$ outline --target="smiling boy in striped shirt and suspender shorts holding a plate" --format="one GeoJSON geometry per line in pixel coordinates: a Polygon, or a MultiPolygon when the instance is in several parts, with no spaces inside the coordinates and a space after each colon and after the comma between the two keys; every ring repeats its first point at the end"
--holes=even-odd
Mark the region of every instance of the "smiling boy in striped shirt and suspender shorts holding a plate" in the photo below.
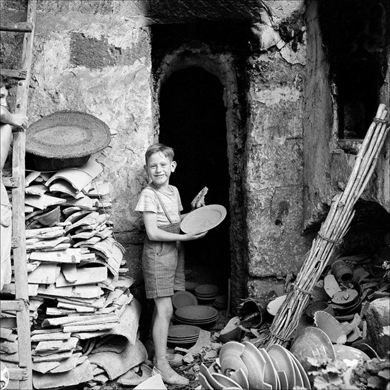
{"type": "Polygon", "coordinates": [[[177,374],[167,359],[167,337],[173,314],[174,290],[185,290],[184,256],[179,241],[202,238],[206,233],[180,234],[180,221],[185,214],[177,188],[169,184],[176,161],[172,148],[154,144],[145,153],[151,182],[141,192],[136,211],[142,212],[146,238],[142,254],[142,270],[146,297],[155,300],[152,333],[155,346],[154,373],[168,385],[188,385],[189,380],[177,374]]]}

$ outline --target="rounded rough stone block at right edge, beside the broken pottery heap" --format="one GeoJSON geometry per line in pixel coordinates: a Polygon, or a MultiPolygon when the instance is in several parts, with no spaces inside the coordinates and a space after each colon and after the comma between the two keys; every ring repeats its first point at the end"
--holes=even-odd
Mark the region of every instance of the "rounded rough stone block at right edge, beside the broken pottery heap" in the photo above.
{"type": "Polygon", "coordinates": [[[366,314],[367,340],[379,356],[385,357],[389,351],[389,336],[381,336],[384,326],[390,325],[390,298],[374,299],[366,314]]]}

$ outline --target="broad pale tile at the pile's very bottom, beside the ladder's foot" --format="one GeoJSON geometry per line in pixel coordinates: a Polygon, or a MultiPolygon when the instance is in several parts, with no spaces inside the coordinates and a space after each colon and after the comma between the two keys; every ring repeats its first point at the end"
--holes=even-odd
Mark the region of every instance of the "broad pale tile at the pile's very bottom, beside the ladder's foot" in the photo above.
{"type": "Polygon", "coordinates": [[[35,389],[52,389],[63,386],[76,386],[81,382],[87,382],[94,378],[91,364],[88,360],[76,366],[73,370],[57,373],[33,374],[33,386],[35,389]]]}

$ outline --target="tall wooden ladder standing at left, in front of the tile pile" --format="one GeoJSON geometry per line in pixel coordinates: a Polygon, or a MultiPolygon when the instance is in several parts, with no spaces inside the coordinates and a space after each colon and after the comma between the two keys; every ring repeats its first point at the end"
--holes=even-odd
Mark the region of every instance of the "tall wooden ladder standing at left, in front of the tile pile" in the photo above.
{"type": "MultiPolygon", "coordinates": [[[[3,76],[17,78],[15,113],[26,114],[30,71],[33,54],[33,39],[37,0],[27,0],[26,21],[0,24],[0,31],[24,33],[21,69],[1,69],[3,76]]],[[[25,171],[24,132],[13,133],[12,177],[4,178],[5,186],[12,187],[12,241],[15,276],[15,300],[2,300],[0,310],[16,311],[18,332],[19,367],[10,368],[10,383],[7,389],[32,389],[32,361],[30,340],[30,315],[27,284],[26,237],[24,221],[24,171],[25,171]]],[[[7,318],[12,319],[12,318],[7,318]]],[[[1,327],[14,328],[15,323],[7,323],[5,318],[1,327]]],[[[5,362],[6,365],[6,362],[5,362]]]]}

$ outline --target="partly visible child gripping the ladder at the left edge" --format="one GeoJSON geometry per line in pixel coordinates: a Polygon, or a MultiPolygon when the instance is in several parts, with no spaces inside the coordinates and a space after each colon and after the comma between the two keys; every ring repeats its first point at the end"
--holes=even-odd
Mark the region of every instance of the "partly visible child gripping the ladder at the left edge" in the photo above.
{"type": "Polygon", "coordinates": [[[6,98],[10,84],[0,75],[0,290],[11,282],[11,205],[2,182],[2,169],[11,145],[12,132],[22,131],[28,126],[28,118],[23,114],[10,114],[6,98]],[[12,128],[13,126],[14,128],[12,128]]]}

